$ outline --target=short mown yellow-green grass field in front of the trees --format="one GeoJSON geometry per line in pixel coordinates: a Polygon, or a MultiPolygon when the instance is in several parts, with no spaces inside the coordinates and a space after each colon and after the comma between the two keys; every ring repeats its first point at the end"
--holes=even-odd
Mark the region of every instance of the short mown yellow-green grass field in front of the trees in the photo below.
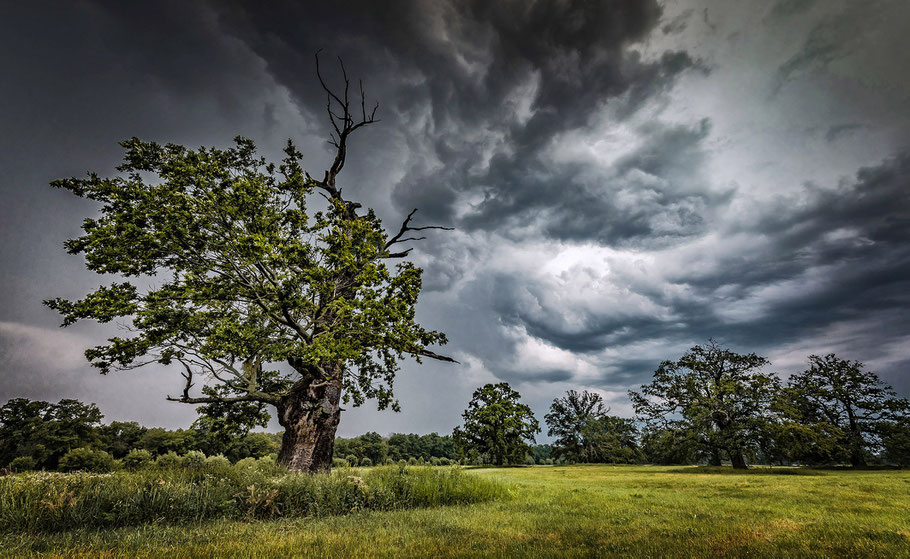
{"type": "Polygon", "coordinates": [[[2,536],[23,556],[910,557],[910,471],[477,469],[495,502],[2,536]]]}

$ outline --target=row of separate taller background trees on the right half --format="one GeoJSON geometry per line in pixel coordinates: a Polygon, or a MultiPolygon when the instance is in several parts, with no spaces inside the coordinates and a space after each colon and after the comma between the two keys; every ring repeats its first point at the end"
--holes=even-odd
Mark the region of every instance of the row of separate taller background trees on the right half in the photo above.
{"type": "Polygon", "coordinates": [[[550,448],[507,383],[474,392],[454,439],[463,459],[601,463],[910,464],[910,402],[858,361],[809,356],[786,383],[769,361],[711,341],[664,361],[630,390],[634,419],[609,414],[594,392],[569,390],[545,416],[550,448]]]}

